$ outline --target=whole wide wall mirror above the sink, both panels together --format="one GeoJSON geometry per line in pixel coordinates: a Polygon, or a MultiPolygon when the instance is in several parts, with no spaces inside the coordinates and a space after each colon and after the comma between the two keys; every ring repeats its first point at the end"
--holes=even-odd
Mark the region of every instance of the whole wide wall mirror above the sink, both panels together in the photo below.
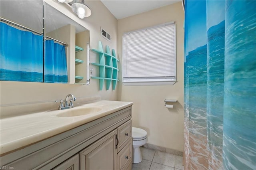
{"type": "Polygon", "coordinates": [[[89,30],[43,0],[0,7],[0,80],[89,83],[89,30]]]}

